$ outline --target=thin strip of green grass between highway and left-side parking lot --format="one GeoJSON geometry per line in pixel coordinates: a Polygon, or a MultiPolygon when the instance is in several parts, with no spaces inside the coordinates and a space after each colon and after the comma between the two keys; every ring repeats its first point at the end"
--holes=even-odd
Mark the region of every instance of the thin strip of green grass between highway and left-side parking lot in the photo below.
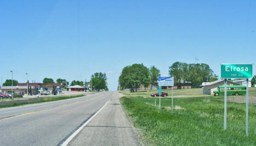
{"type": "MultiPolygon", "coordinates": [[[[48,96],[48,97],[44,97],[44,98],[40,98],[42,100],[38,100],[38,101],[32,101],[30,102],[28,99],[27,102],[25,103],[11,103],[8,105],[0,105],[0,108],[4,108],[4,107],[14,107],[14,106],[21,106],[21,105],[28,105],[28,104],[38,104],[41,102],[49,102],[49,101],[56,101],[56,100],[63,100],[63,99],[71,99],[71,98],[78,98],[81,96],[86,96],[86,95],[75,95],[75,96],[48,96]]],[[[24,99],[23,99],[24,100],[24,99]]],[[[14,100],[12,100],[14,101],[14,100]]]]}

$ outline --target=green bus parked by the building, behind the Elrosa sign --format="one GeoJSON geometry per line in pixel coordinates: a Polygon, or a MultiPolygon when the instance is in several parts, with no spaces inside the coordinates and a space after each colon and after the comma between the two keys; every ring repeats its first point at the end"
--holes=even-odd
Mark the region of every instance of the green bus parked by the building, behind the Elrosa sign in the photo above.
{"type": "MultiPolygon", "coordinates": [[[[218,90],[214,91],[214,96],[224,95],[225,86],[219,86],[218,90]]],[[[226,86],[226,95],[241,95],[246,94],[246,86],[235,85],[226,86]]]]}

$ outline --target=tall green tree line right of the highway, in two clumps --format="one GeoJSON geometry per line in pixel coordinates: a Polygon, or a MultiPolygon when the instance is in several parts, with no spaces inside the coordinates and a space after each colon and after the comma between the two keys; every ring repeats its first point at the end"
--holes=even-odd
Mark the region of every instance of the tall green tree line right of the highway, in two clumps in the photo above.
{"type": "MultiPolygon", "coordinates": [[[[191,87],[197,88],[202,82],[218,80],[218,76],[205,63],[188,64],[175,62],[169,66],[168,74],[174,77],[174,86],[179,89],[185,83],[190,83],[191,87]]],[[[131,92],[137,92],[141,85],[146,88],[151,84],[152,89],[153,86],[158,86],[158,77],[160,75],[160,70],[155,66],[147,68],[143,64],[132,64],[123,68],[119,76],[119,86],[122,89],[130,89],[131,92]]]]}

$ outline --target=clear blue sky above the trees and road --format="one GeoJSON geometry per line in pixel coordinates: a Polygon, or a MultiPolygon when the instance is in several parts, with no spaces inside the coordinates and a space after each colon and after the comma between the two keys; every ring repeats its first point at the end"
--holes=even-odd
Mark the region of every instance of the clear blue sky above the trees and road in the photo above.
{"type": "MultiPolygon", "coordinates": [[[[256,64],[256,1],[1,1],[3,82],[90,80],[106,72],[172,63],[256,64]]],[[[254,75],[256,69],[254,67],[254,75]]]]}

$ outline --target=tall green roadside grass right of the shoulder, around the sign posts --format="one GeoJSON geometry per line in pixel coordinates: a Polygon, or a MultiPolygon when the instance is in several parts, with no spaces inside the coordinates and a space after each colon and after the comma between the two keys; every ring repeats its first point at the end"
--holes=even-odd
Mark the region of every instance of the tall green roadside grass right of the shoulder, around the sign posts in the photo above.
{"type": "Polygon", "coordinates": [[[228,102],[227,129],[223,130],[223,97],[120,99],[135,127],[152,145],[256,145],[256,106],[249,105],[249,135],[245,135],[246,105],[228,102]],[[158,99],[156,100],[158,103],[158,99]]]}

